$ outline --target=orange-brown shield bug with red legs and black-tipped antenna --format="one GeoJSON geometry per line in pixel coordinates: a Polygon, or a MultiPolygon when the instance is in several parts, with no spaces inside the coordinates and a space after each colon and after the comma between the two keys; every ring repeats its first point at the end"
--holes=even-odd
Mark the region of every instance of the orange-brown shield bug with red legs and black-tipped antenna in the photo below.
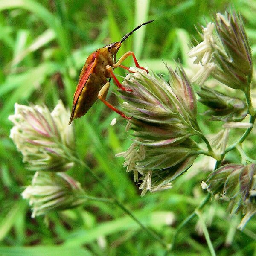
{"type": "Polygon", "coordinates": [[[121,47],[122,42],[125,41],[134,31],[139,29],[141,26],[151,23],[152,21],[153,20],[150,20],[140,24],[131,32],[123,36],[121,41],[108,44],[103,48],[97,49],[95,52],[89,55],[79,76],[78,85],[74,94],[69,124],[71,124],[73,119],[84,116],[97,99],[100,99],[108,108],[116,111],[116,113],[122,117],[131,119],[131,117],[125,116],[125,114],[122,113],[119,109],[115,108],[108,101],[106,101],[106,96],[110,86],[109,82],[111,78],[113,78],[114,84],[116,84],[116,86],[120,89],[125,91],[132,91],[129,88],[123,87],[113,73],[113,70],[116,67],[122,67],[126,70],[129,70],[128,67],[121,65],[121,63],[128,56],[132,55],[135,66],[147,71],[148,73],[148,70],[146,70],[144,67],[140,67],[134,52],[126,52],[117,62],[116,53],[121,47]]]}

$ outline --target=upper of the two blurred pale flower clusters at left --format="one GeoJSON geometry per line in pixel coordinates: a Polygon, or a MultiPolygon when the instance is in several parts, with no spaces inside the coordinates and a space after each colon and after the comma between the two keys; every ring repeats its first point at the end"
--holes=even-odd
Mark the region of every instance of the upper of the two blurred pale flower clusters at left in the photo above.
{"type": "Polygon", "coordinates": [[[67,153],[73,154],[72,126],[69,112],[61,101],[52,112],[46,106],[15,104],[10,137],[23,155],[27,167],[34,171],[66,171],[73,166],[67,153]]]}

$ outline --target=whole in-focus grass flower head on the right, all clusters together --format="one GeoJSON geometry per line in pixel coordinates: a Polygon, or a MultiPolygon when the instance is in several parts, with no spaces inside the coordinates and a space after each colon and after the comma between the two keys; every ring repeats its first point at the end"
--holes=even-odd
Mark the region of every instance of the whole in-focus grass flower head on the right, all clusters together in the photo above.
{"type": "Polygon", "coordinates": [[[124,100],[121,107],[125,115],[132,116],[127,130],[133,143],[127,151],[116,156],[124,157],[127,172],[133,171],[134,180],[140,180],[142,195],[147,190],[153,192],[171,187],[170,182],[189,169],[198,154],[215,158],[216,170],[209,175],[204,188],[212,195],[220,194],[221,199],[230,201],[230,205],[236,204],[233,212],[243,208],[245,217],[239,225],[242,229],[256,212],[252,192],[255,190],[254,163],[232,169],[233,164],[221,166],[221,162],[227,152],[245,140],[256,117],[250,99],[250,45],[241,17],[235,13],[218,13],[215,21],[202,30],[203,41],[189,52],[194,63],[200,66],[191,81],[182,68],[176,71],[168,68],[169,82],[140,70],[125,78],[123,86],[131,88],[132,92],[120,90],[124,100]],[[223,91],[225,86],[241,90],[245,98],[238,98],[236,92],[227,95],[207,87],[204,83],[210,75],[221,84],[223,91]],[[204,115],[210,116],[211,121],[223,122],[222,129],[210,140],[198,127],[197,100],[191,82],[200,86],[199,101],[208,108],[204,115]],[[241,122],[247,114],[251,116],[250,123],[241,122]],[[227,147],[232,128],[246,131],[237,143],[227,147]],[[192,140],[193,135],[204,140],[208,151],[192,140]]]}

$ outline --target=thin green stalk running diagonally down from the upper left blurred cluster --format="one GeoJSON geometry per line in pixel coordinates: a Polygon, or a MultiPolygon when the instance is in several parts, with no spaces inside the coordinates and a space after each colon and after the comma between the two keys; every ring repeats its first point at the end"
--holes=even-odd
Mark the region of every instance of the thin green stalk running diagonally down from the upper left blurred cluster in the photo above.
{"type": "Polygon", "coordinates": [[[118,205],[125,213],[127,213],[132,219],[134,219],[134,221],[136,221],[140,227],[142,227],[143,230],[145,230],[145,232],[147,232],[151,237],[153,237],[155,240],[157,240],[160,244],[163,245],[163,247],[167,248],[168,244],[166,244],[165,241],[163,241],[163,239],[161,239],[160,236],[158,236],[156,233],[154,233],[152,230],[150,230],[148,227],[146,227],[144,224],[142,224],[140,222],[140,220],[135,217],[135,215],[129,210],[127,209],[117,198],[116,195],[110,190],[108,189],[108,187],[102,182],[102,180],[100,179],[100,177],[98,175],[96,175],[95,172],[93,172],[92,169],[90,169],[83,161],[79,160],[78,158],[71,156],[70,155],[71,160],[73,160],[74,162],[78,163],[79,165],[83,166],[87,172],[90,173],[90,175],[92,175],[94,177],[95,180],[97,180],[97,182],[99,182],[99,184],[108,192],[109,195],[111,195],[111,197],[113,198],[113,202],[118,205]]]}

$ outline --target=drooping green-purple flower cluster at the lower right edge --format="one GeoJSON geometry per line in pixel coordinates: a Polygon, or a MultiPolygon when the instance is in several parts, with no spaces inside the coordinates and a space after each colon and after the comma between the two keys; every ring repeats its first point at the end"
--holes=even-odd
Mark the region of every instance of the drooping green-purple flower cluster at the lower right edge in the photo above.
{"type": "Polygon", "coordinates": [[[227,164],[209,175],[208,192],[215,198],[229,202],[230,211],[242,210],[244,218],[239,224],[243,229],[256,213],[256,164],[227,164]]]}

